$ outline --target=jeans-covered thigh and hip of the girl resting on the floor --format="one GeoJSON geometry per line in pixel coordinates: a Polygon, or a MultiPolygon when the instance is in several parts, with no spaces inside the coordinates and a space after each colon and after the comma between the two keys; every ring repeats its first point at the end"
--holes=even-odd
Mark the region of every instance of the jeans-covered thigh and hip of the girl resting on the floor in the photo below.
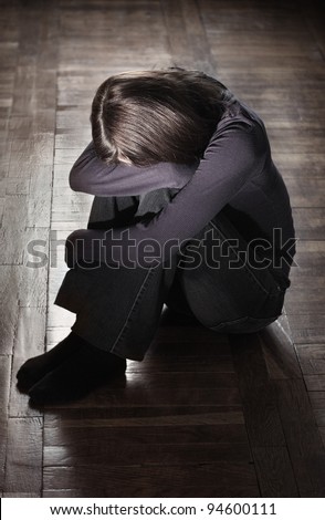
{"type": "Polygon", "coordinates": [[[174,292],[180,309],[224,333],[255,332],[276,320],[290,284],[287,277],[262,262],[222,214],[196,239],[200,242],[187,248],[188,258],[176,271],[167,305],[172,308],[174,292]]]}

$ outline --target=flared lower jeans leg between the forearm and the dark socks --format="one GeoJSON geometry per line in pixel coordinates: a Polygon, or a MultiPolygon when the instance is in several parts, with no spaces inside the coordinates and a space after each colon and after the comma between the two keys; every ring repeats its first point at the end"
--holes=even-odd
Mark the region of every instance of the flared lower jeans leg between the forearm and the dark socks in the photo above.
{"type": "MultiPolygon", "coordinates": [[[[86,278],[88,291],[83,301],[69,308],[64,285],[55,300],[76,312],[72,331],[102,351],[141,361],[156,332],[168,290],[165,270],[105,266],[82,273],[77,268],[74,275],[74,283],[77,278],[86,278]]],[[[70,287],[72,291],[71,280],[70,287]]]]}

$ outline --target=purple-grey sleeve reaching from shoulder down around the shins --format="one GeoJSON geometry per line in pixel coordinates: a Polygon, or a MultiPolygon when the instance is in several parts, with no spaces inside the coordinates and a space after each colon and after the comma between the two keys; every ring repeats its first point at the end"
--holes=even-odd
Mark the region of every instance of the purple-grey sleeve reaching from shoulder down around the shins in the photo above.
{"type": "Polygon", "coordinates": [[[263,169],[268,146],[260,125],[230,121],[212,136],[189,183],[157,216],[108,231],[74,231],[66,242],[67,264],[73,267],[81,257],[127,267],[168,260],[263,169]]]}

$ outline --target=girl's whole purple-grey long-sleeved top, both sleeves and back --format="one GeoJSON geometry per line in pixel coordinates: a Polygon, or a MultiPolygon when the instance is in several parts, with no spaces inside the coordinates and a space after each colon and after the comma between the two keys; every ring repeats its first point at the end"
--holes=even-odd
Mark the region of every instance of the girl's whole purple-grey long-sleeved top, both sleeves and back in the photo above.
{"type": "MultiPolygon", "coordinates": [[[[74,231],[66,247],[70,267],[75,261],[71,245],[80,238],[85,241],[85,259],[94,258],[93,240],[101,239],[95,257],[102,261],[141,264],[148,257],[141,241],[151,239],[153,258],[165,261],[170,254],[166,243],[186,243],[222,210],[248,241],[261,241],[260,251],[272,259],[275,271],[289,273],[294,254],[289,195],[272,162],[263,122],[239,102],[237,113],[217,124],[203,158],[193,167],[107,165],[96,157],[91,144],[74,164],[70,184],[76,191],[96,196],[144,196],[166,187],[178,191],[149,222],[114,228],[108,233],[74,231]]],[[[178,250],[174,247],[172,254],[178,250]]]]}

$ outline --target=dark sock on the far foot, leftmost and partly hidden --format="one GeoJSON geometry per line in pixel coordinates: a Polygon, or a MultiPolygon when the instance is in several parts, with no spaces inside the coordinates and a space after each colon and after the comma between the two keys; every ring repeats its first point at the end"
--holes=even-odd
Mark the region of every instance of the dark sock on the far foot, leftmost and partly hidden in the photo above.
{"type": "Polygon", "coordinates": [[[73,355],[78,347],[80,337],[71,332],[51,351],[28,360],[17,373],[18,388],[22,392],[29,391],[38,381],[73,355]]]}

